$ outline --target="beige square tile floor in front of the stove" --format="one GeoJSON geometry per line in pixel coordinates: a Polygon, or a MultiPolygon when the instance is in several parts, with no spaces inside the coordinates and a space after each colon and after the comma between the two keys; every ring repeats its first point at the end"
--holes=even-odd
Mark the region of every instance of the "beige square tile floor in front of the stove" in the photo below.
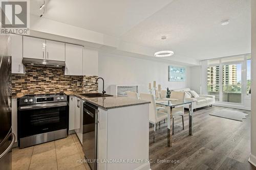
{"type": "Polygon", "coordinates": [[[89,170],[86,163],[77,162],[84,154],[76,134],[67,138],[35,145],[33,147],[12,150],[12,169],[83,169],[89,170]]]}

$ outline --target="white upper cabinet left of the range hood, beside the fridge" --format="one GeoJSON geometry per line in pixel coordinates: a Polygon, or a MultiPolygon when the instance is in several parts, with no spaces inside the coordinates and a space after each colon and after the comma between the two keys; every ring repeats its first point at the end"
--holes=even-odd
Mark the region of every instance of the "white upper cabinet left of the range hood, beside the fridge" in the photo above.
{"type": "Polygon", "coordinates": [[[12,56],[12,73],[25,74],[25,66],[22,63],[23,36],[11,35],[8,45],[8,55],[12,56]]]}

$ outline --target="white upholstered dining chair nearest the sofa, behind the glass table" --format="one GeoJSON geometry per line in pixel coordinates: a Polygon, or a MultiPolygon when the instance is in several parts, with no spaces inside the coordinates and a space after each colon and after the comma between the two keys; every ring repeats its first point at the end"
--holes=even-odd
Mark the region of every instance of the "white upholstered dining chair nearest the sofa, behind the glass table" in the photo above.
{"type": "MultiPolygon", "coordinates": [[[[184,91],[172,91],[172,93],[170,94],[170,98],[184,101],[185,92],[184,91]]],[[[159,109],[159,112],[167,113],[167,109],[159,109]]],[[[173,134],[174,134],[174,120],[175,120],[175,117],[182,116],[182,127],[183,127],[183,130],[184,130],[184,106],[173,108],[172,113],[173,113],[173,134]]]]}

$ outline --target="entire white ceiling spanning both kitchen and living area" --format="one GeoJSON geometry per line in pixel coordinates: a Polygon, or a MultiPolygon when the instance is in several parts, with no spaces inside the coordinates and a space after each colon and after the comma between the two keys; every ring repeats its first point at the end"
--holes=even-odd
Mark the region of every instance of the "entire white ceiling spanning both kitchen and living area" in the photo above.
{"type": "MultiPolygon", "coordinates": [[[[30,2],[31,13],[39,16],[43,1],[30,2]]],[[[125,42],[173,50],[173,58],[203,60],[250,53],[250,0],[46,2],[45,18],[125,42]],[[230,20],[229,25],[221,26],[225,19],[230,20]],[[168,38],[161,40],[163,35],[168,38]]]]}

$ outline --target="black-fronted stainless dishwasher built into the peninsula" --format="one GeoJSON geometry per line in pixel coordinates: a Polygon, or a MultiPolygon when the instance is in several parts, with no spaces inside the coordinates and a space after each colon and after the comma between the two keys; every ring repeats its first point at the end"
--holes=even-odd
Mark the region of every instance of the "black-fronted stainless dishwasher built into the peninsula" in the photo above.
{"type": "Polygon", "coordinates": [[[92,170],[97,169],[98,107],[88,102],[83,104],[82,150],[92,170]]]}

